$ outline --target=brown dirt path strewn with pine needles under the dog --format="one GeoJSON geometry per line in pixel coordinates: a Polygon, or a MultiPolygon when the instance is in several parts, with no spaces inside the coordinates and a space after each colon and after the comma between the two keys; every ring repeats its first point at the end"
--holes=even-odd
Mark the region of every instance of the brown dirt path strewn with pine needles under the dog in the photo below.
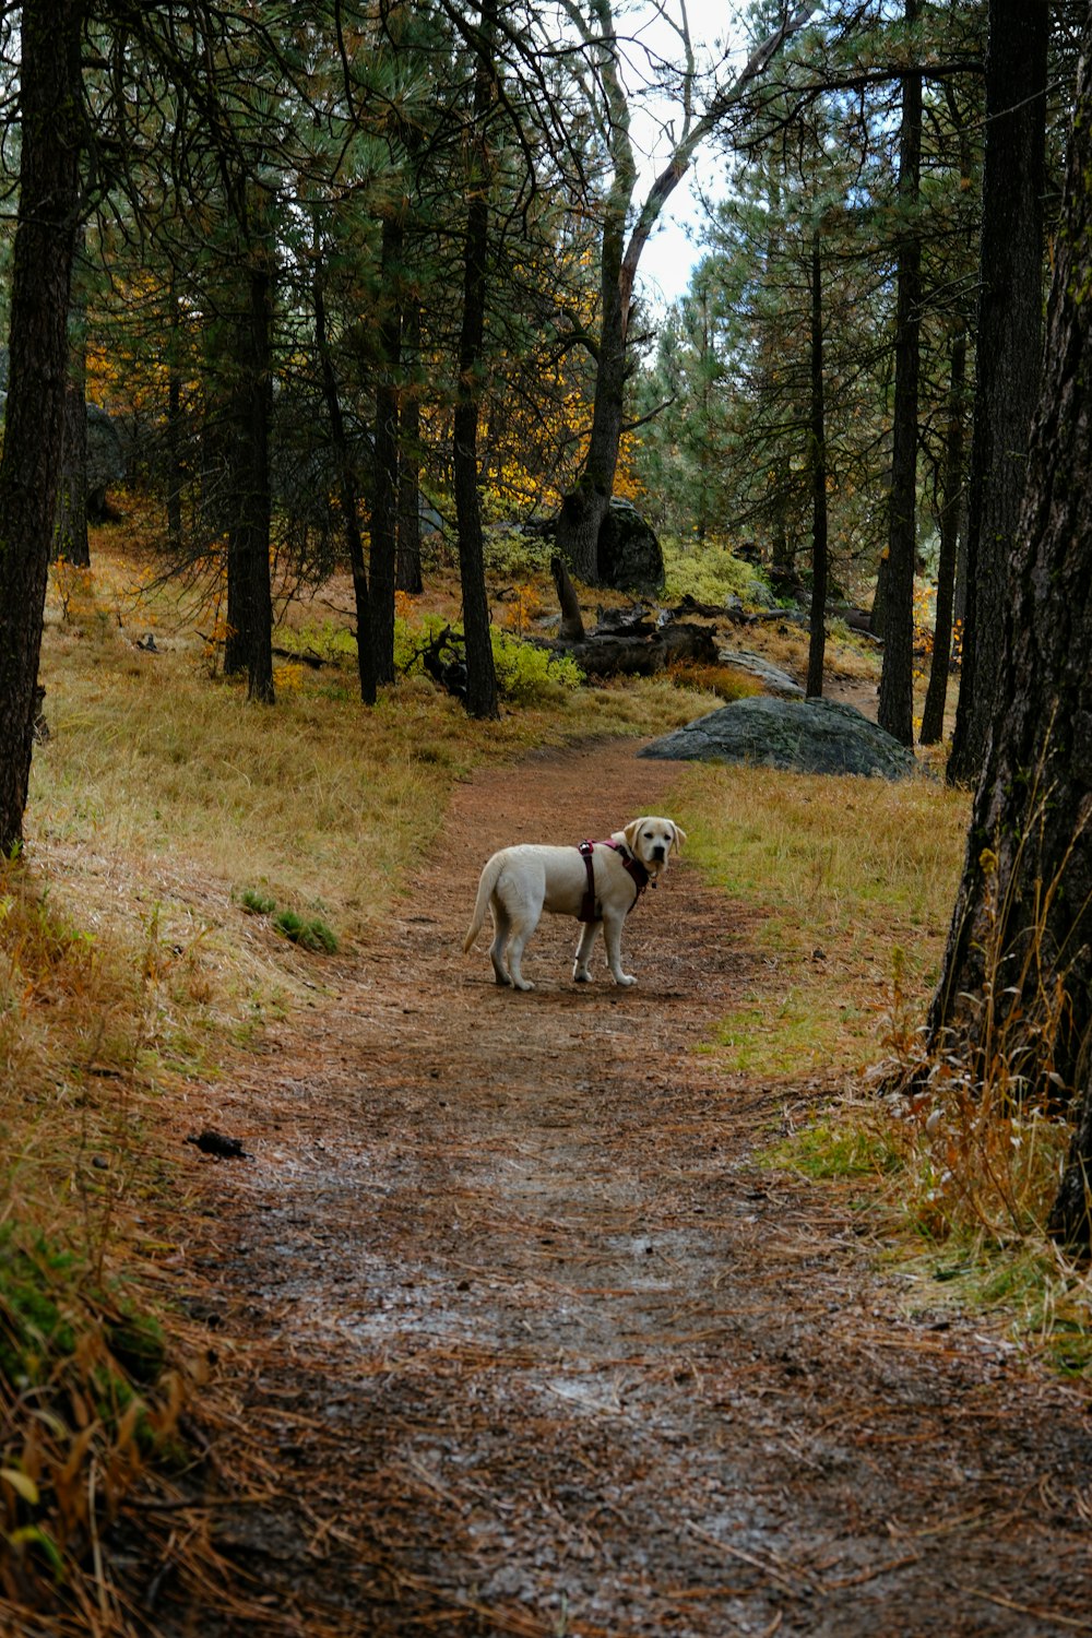
{"type": "Polygon", "coordinates": [[[568,981],[575,924],[534,994],[462,955],[493,847],[671,778],[612,747],[463,786],[390,947],[221,1101],[257,1158],[193,1155],[210,1335],[267,1468],[218,1514],[237,1620],[165,1630],[1092,1631],[1084,1402],[902,1317],[850,1220],[748,1168],[778,1099],[691,1050],[765,981],[730,906],[673,865],[630,991],[568,981]]]}

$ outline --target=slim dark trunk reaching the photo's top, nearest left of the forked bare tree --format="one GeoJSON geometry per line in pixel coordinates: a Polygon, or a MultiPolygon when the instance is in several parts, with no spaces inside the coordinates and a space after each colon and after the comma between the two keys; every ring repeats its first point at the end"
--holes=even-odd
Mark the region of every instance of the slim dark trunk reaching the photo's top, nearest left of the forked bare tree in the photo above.
{"type": "Polygon", "coordinates": [[[490,600],[485,590],[485,537],[478,495],[478,418],[481,413],[481,360],[485,352],[485,298],[490,257],[491,170],[486,120],[496,100],[496,70],[490,41],[496,28],[493,0],[481,7],[483,44],[475,75],[475,143],[470,156],[467,241],[463,262],[463,318],[458,337],[458,396],[455,400],[453,465],[455,519],[458,526],[458,577],[463,593],[467,637],[467,709],[476,717],[498,716],[496,668],[490,639],[490,600]]]}

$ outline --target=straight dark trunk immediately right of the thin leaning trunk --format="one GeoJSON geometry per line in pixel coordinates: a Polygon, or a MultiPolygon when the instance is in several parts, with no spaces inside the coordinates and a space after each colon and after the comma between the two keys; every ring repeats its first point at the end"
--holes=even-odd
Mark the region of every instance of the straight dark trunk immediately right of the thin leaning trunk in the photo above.
{"type": "Polygon", "coordinates": [[[398,555],[398,369],[401,362],[401,201],[383,216],[380,249],[375,446],[372,468],[372,634],[375,680],[395,681],[395,575],[398,555]]]}

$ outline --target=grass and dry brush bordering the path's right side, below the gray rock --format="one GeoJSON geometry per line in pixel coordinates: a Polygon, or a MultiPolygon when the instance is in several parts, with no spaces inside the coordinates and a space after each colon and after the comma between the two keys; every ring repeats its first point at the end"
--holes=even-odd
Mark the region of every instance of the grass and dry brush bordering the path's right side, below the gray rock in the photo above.
{"type": "MultiPolygon", "coordinates": [[[[1059,998],[997,1006],[974,1063],[923,1055],[969,798],[743,768],[688,770],[683,790],[688,848],[755,916],[763,963],[706,1050],[805,1091],[761,1165],[843,1191],[915,1312],[990,1310],[1025,1351],[1085,1373],[1092,1269],[1043,1227],[1071,1124],[1049,1081],[1020,1078],[1059,998]]],[[[1004,957],[987,952],[987,989],[1004,957]]]]}

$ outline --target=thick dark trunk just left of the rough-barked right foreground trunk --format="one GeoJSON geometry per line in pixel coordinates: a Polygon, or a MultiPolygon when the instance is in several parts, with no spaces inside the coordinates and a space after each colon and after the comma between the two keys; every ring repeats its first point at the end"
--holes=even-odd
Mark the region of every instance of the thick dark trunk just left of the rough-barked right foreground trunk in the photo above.
{"type": "Polygon", "coordinates": [[[948,778],[972,783],[999,693],[1009,557],[1043,334],[1046,0],[989,0],[986,152],[963,675],[948,778]]]}

